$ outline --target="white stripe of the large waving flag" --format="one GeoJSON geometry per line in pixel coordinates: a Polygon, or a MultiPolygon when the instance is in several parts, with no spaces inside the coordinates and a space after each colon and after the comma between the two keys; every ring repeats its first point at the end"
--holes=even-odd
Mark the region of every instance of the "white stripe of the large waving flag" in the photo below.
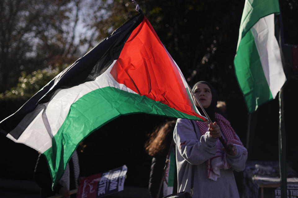
{"type": "Polygon", "coordinates": [[[63,124],[69,112],[70,106],[85,94],[104,87],[114,87],[129,93],[137,94],[130,88],[127,88],[124,84],[119,84],[112,77],[110,71],[115,62],[116,60],[94,81],[85,82],[84,84],[67,89],[57,90],[50,101],[38,105],[36,109],[27,114],[13,130],[23,131],[25,129],[18,140],[13,138],[10,134],[8,134],[7,137],[15,142],[26,144],[27,146],[43,153],[52,147],[52,137],[55,136],[63,124]],[[29,126],[26,127],[26,123],[30,120],[30,118],[34,119],[29,126]]]}

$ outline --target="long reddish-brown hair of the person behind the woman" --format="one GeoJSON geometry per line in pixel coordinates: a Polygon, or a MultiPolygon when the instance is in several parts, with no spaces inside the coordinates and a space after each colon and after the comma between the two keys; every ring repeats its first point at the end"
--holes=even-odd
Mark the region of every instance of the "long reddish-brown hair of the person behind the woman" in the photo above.
{"type": "Polygon", "coordinates": [[[173,139],[176,120],[166,121],[156,128],[145,143],[145,150],[150,156],[165,157],[168,154],[173,139]]]}

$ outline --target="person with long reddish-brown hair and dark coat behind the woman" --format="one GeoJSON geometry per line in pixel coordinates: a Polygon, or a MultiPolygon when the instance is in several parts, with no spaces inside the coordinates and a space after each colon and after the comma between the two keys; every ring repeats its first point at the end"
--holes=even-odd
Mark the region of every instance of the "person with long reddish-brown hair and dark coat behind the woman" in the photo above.
{"type": "MultiPolygon", "coordinates": [[[[176,120],[166,121],[162,125],[160,125],[149,137],[149,140],[145,144],[146,152],[152,157],[151,162],[151,170],[149,175],[149,195],[151,198],[156,198],[158,194],[158,190],[160,187],[160,182],[163,179],[163,172],[165,167],[165,161],[167,159],[167,155],[169,153],[170,145],[173,140],[173,131],[175,127],[176,120]]],[[[174,147],[173,147],[174,151],[174,147]]],[[[174,155],[172,155],[174,157],[174,155]]],[[[175,158],[170,158],[170,163],[175,162],[175,158]]],[[[177,192],[177,178],[176,166],[168,166],[172,167],[174,181],[173,187],[168,187],[166,183],[163,181],[163,186],[160,190],[159,197],[163,197],[172,193],[177,192]]],[[[168,171],[167,171],[168,172],[168,171]]],[[[170,181],[169,181],[170,184],[170,181]]]]}

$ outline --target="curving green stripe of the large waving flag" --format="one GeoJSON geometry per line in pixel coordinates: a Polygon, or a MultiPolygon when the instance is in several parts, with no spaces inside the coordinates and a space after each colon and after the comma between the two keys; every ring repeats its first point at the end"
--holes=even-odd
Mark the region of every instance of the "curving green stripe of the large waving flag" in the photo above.
{"type": "Polygon", "coordinates": [[[120,115],[133,113],[201,120],[145,96],[113,87],[96,89],[70,106],[64,123],[52,139],[52,148],[44,152],[53,182],[56,184],[61,178],[67,161],[86,136],[120,115]]]}

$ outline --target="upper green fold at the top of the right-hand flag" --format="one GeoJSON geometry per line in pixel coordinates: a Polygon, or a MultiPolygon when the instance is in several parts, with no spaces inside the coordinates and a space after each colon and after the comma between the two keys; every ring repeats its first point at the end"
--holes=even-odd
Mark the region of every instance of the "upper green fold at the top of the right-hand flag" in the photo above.
{"type": "Polygon", "coordinates": [[[246,32],[248,32],[260,18],[273,13],[279,13],[278,0],[246,0],[239,28],[237,49],[246,32]]]}

